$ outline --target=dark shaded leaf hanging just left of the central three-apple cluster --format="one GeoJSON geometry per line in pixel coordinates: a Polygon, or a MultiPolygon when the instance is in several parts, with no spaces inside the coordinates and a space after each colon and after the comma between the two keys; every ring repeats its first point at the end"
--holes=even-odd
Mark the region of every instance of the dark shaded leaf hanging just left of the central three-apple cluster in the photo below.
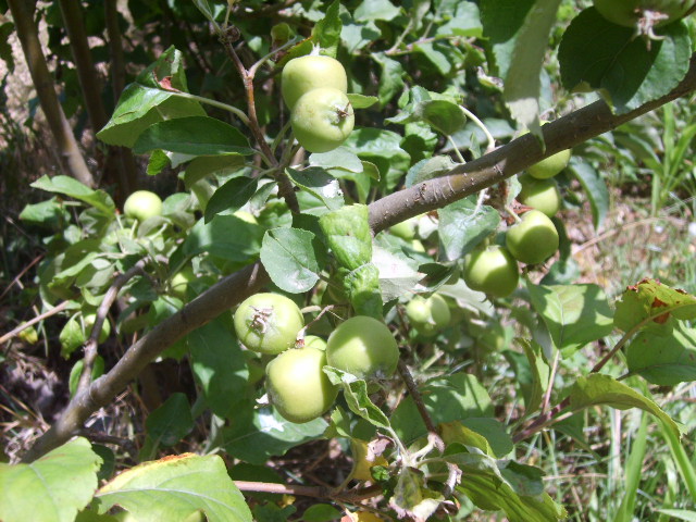
{"type": "Polygon", "coordinates": [[[210,410],[227,418],[245,397],[249,371],[229,328],[216,319],[188,334],[190,363],[210,410]]]}

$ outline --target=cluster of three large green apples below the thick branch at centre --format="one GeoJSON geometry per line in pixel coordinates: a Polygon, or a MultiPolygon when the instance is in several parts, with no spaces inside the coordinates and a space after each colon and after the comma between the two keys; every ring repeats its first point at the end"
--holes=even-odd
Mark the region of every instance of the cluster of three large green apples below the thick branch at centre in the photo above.
{"type": "Polygon", "coordinates": [[[336,400],[338,387],[324,373],[326,364],[369,381],[391,376],[399,360],[386,324],[364,315],[340,323],[327,340],[298,335],[304,328],[302,312],[279,294],[247,298],[234,313],[234,325],[246,348],[274,356],[265,366],[269,400],[295,423],[316,419],[336,400]]]}

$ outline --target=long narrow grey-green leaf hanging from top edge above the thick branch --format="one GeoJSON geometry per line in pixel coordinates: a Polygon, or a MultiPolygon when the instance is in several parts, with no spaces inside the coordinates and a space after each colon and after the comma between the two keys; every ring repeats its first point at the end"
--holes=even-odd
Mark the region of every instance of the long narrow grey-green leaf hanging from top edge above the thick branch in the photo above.
{"type": "Polygon", "coordinates": [[[523,127],[537,121],[542,67],[560,0],[537,0],[514,40],[502,94],[510,113],[523,127]]]}

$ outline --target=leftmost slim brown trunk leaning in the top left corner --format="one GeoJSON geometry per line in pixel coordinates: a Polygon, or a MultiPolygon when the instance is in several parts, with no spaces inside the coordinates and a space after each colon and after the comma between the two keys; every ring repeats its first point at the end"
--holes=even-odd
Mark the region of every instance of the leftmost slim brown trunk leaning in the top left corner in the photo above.
{"type": "Polygon", "coordinates": [[[39,97],[41,110],[51,129],[51,134],[58,146],[61,169],[84,183],[88,187],[95,186],[95,178],[87,169],[87,163],[83,158],[77,140],[63,113],[63,108],[55,95],[55,84],[48,71],[46,57],[41,50],[38,30],[34,23],[35,2],[27,0],[8,0],[10,11],[14,20],[14,25],[22,44],[22,50],[29,67],[34,87],[39,97]]]}

